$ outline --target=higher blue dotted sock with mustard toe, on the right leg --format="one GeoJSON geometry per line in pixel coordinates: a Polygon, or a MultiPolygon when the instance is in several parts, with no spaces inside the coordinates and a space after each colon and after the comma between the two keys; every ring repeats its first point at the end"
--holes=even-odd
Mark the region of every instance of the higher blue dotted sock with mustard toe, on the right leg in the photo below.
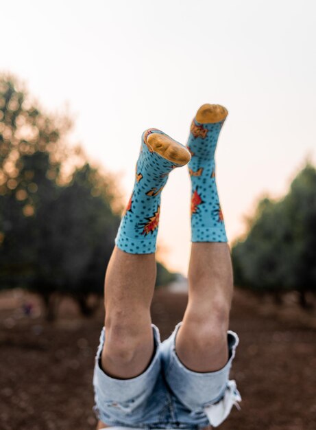
{"type": "Polygon", "coordinates": [[[188,164],[192,242],[228,242],[215,178],[217,139],[227,113],[222,106],[203,105],[191,124],[186,146],[192,157],[188,164]]]}

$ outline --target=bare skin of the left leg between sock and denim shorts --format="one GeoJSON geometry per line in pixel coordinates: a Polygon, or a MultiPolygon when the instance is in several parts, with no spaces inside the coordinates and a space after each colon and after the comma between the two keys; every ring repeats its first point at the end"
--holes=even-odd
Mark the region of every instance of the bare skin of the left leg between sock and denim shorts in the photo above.
{"type": "Polygon", "coordinates": [[[114,247],[105,281],[106,342],[101,363],[115,378],[134,378],[154,351],[150,303],[156,281],[155,254],[114,247]]]}

